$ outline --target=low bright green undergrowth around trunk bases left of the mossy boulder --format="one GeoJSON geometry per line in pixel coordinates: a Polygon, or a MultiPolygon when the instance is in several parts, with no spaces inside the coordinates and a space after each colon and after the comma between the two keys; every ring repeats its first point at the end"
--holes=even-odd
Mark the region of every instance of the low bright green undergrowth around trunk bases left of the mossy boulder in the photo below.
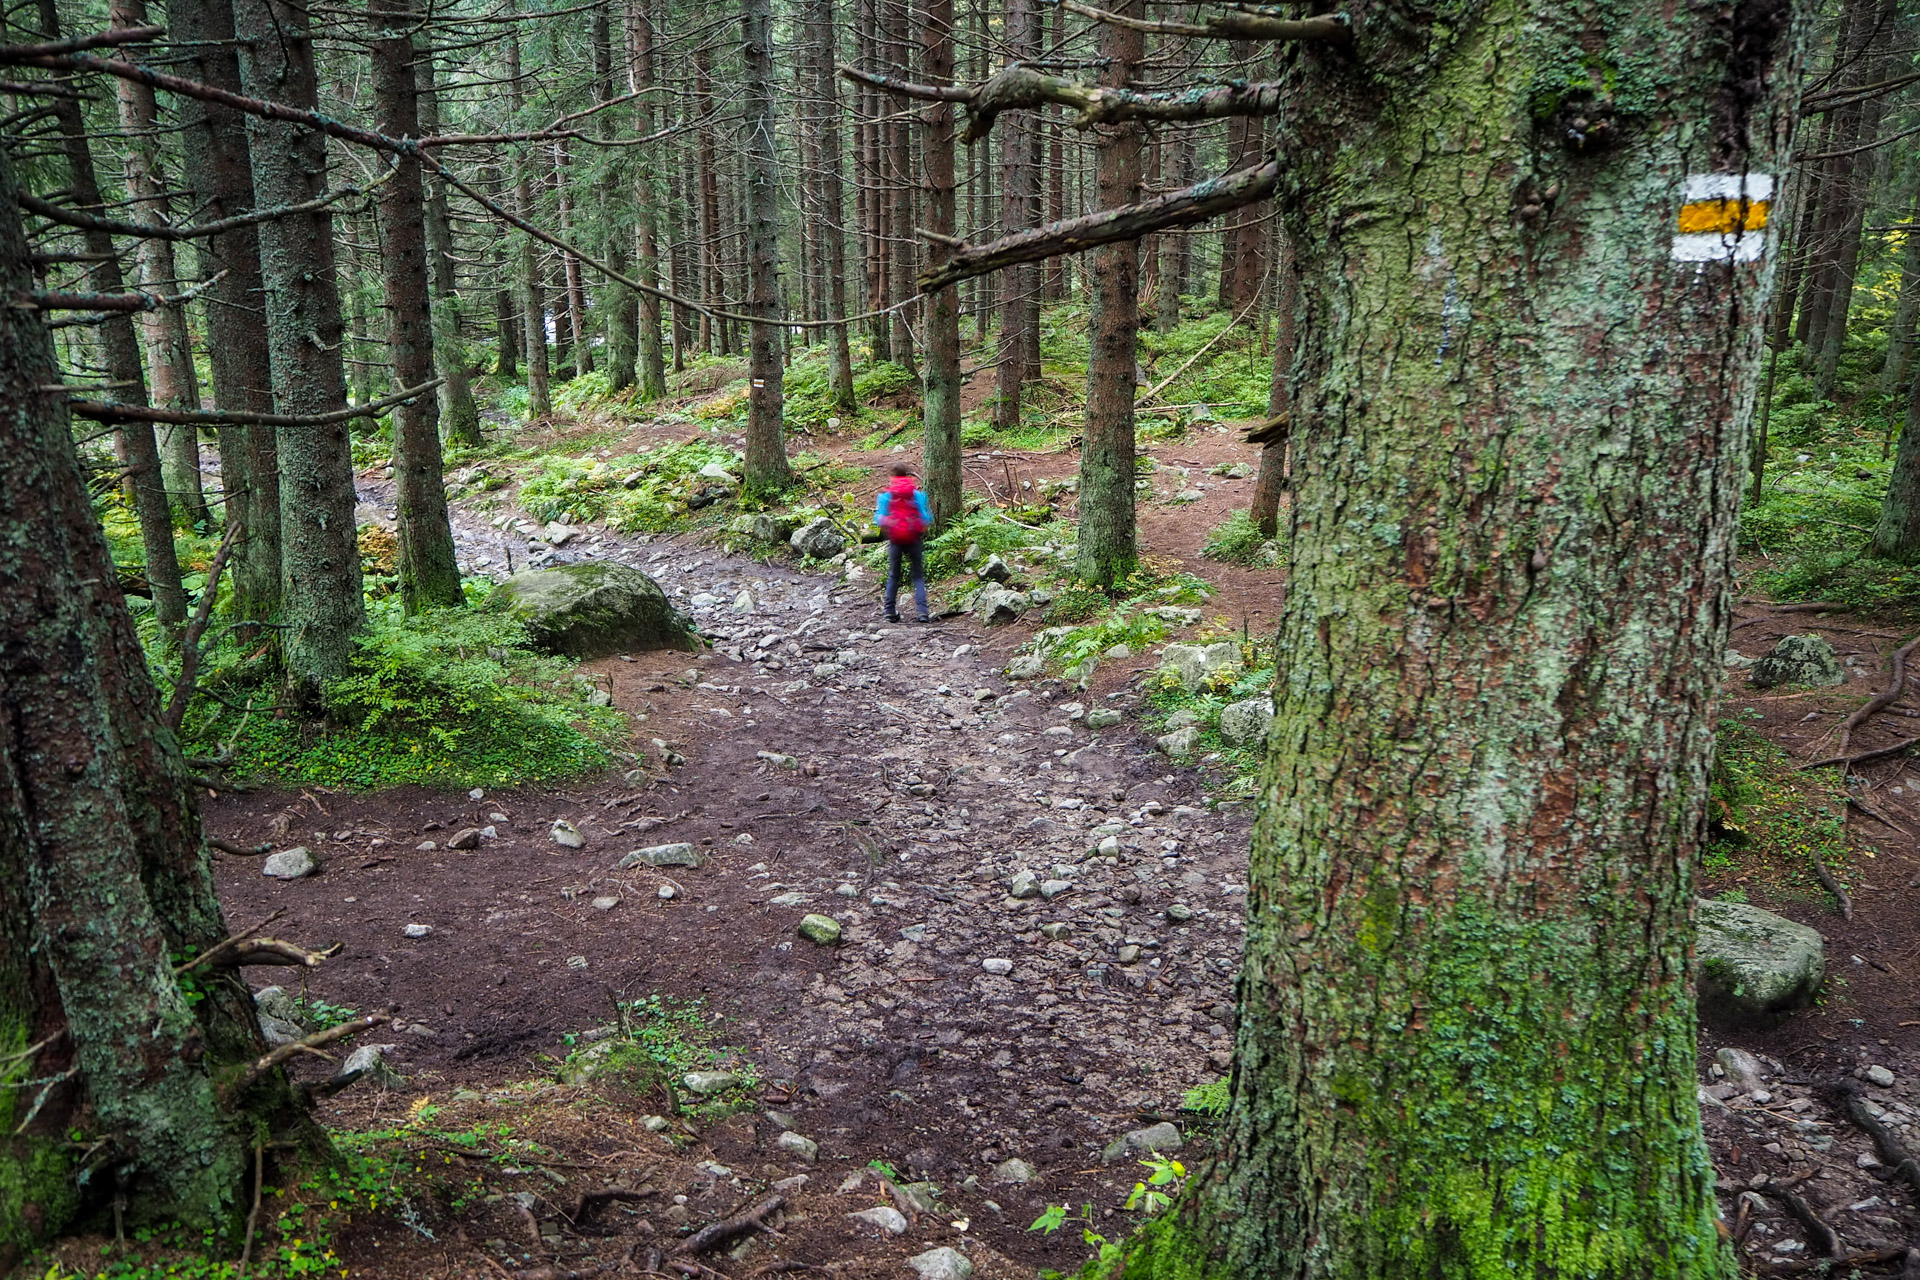
{"type": "Polygon", "coordinates": [[[624,718],[588,702],[574,664],[534,652],[499,614],[432,610],[403,618],[388,597],[369,606],[353,672],[324,691],[326,716],[269,708],[267,664],[246,643],[215,649],[184,725],[188,754],[221,756],[234,777],[288,785],[505,787],[553,783],[614,764],[624,718]]]}

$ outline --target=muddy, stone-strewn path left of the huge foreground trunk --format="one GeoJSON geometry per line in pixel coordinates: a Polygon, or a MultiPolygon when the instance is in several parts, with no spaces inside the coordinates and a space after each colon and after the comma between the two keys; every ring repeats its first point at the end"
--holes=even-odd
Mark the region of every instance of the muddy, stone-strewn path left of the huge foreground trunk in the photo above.
{"type": "MultiPolygon", "coordinates": [[[[386,493],[363,482],[363,497],[386,493]]],[[[467,509],[455,528],[468,562],[503,560],[515,537],[467,509]]],[[[515,562],[524,555],[522,539],[515,562]]],[[[964,618],[889,626],[872,578],[603,530],[557,557],[647,570],[714,641],[586,668],[634,716],[636,743],[664,739],[685,764],[478,798],[223,796],[209,831],[301,842],[323,860],[321,875],[290,883],[221,860],[228,919],[284,910],[273,933],[342,940],[309,992],[397,1006],[394,1034],[374,1038],[399,1046],[409,1096],[436,1102],[551,1073],[563,1038],[612,1021],[616,1000],[705,998],[718,1036],[745,1050],[820,1157],[776,1148],[764,1115],[724,1123],[703,1142],[730,1174],[695,1169],[672,1188],[693,1196],[695,1226],[806,1173],[799,1215],[824,1234],[789,1255],[808,1261],[962,1244],[981,1274],[1031,1274],[1002,1272],[998,1255],[1071,1268],[1085,1257],[1077,1230],[1027,1230],[1062,1201],[1092,1201],[1117,1236],[1123,1221],[1104,1213],[1142,1171],[1102,1165],[1102,1148],[1190,1119],[1173,1115],[1181,1094],[1229,1065],[1246,814],[1208,808],[1192,773],[1125,723],[1085,727],[1077,710],[1133,704],[1123,674],[1102,672],[1108,683],[1087,693],[1010,685],[1000,666],[1018,637],[964,618]],[[559,846],[555,819],[584,846],[559,846]],[[486,825],[497,839],[445,848],[486,825]],[[691,842],[705,865],[614,869],[668,842],[691,842]],[[1021,869],[1056,881],[1048,896],[1010,896],[1021,869]],[[808,912],[841,921],[839,946],[797,935],[808,912]],[[432,933],[409,938],[409,925],[432,933]],[[935,1182],[943,1213],[918,1215],[900,1240],[849,1222],[876,1203],[872,1178],[835,1188],[874,1159],[935,1182]],[[1008,1180],[1010,1159],[1033,1180],[1008,1180]]],[[[634,1115],[660,1103],[636,1102],[634,1115]]],[[[346,1117],[367,1103],[338,1105],[346,1117]]],[[[653,1134],[636,1142],[666,1150],[653,1134]]],[[[511,1222],[497,1230],[515,1238],[511,1222]]],[[[799,1228],[789,1217],[783,1230],[799,1228]]],[[[549,1255],[601,1247],[563,1242],[549,1255]]],[[[551,1261],[538,1253],[515,1244],[501,1259],[551,1261]]],[[[394,1267],[376,1257],[376,1270],[394,1267]]]]}

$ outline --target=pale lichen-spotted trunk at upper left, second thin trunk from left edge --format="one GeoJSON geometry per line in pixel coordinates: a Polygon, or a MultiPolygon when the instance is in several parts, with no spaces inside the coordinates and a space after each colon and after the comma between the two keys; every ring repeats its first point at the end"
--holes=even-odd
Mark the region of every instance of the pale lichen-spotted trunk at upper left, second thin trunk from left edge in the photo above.
{"type": "MultiPolygon", "coordinates": [[[[146,0],[113,0],[108,6],[113,27],[144,27],[146,0]]],[[[127,173],[129,211],[146,223],[171,223],[173,201],[167,198],[156,144],[159,109],[154,90],[136,81],[113,81],[125,134],[123,169],[127,173]]],[[[140,242],[140,288],[152,294],[173,290],[179,276],[171,240],[140,242]]],[[[163,409],[200,409],[200,378],[194,376],[194,334],[186,322],[186,307],[148,311],[142,326],[146,361],[154,382],[154,399],[163,409]]],[[[190,530],[213,524],[207,495],[200,484],[200,432],[192,426],[156,426],[159,436],[159,472],[167,499],[180,522],[190,530]]]]}

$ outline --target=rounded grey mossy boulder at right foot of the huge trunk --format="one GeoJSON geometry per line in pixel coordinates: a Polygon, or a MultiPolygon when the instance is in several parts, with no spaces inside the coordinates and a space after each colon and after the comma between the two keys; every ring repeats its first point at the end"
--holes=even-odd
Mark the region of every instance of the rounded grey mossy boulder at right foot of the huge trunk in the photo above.
{"type": "Polygon", "coordinates": [[[1699,1015],[1709,1023],[1770,1023],[1812,1004],[1826,979],[1820,933],[1745,902],[1701,898],[1699,1015]]]}

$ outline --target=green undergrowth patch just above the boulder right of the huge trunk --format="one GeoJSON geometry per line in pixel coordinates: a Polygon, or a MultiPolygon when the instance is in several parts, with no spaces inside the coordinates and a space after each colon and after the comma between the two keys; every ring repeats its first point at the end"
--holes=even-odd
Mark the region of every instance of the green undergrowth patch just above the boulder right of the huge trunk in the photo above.
{"type": "MultiPolygon", "coordinates": [[[[1755,727],[1759,714],[1730,712],[1715,727],[1707,844],[1715,877],[1759,881],[1776,892],[1824,896],[1812,860],[1847,877],[1847,785],[1841,770],[1801,771],[1755,727]]],[[[1862,850],[1870,856],[1870,850],[1862,850]]]]}

